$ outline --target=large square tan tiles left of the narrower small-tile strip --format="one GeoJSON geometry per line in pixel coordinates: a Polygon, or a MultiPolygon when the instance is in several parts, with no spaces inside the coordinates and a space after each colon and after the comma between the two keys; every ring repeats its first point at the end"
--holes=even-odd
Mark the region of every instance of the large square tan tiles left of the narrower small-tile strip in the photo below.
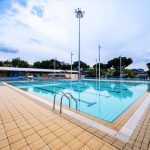
{"type": "Polygon", "coordinates": [[[20,93],[0,88],[0,149],[116,148],[20,93]]]}

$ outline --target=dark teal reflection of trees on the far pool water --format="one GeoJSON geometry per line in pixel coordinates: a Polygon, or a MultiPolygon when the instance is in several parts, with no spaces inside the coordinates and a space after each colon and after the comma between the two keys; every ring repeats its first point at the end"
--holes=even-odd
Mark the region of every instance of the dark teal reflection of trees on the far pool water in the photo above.
{"type": "MultiPolygon", "coordinates": [[[[53,82],[54,83],[54,82],[53,82]]],[[[29,83],[27,82],[26,85],[29,83]]],[[[141,85],[140,83],[121,83],[121,82],[96,82],[96,81],[56,81],[55,84],[49,82],[49,86],[42,86],[45,82],[40,82],[41,86],[37,85],[38,82],[33,82],[31,86],[33,87],[33,92],[38,93],[51,93],[54,94],[61,90],[70,90],[70,92],[78,92],[78,99],[80,99],[80,93],[89,93],[89,94],[100,94],[100,92],[108,92],[109,96],[117,97],[120,99],[125,99],[133,96],[131,90],[132,87],[141,85]],[[96,92],[92,92],[89,89],[94,89],[96,92]]],[[[150,84],[147,84],[150,89],[150,84]]]]}

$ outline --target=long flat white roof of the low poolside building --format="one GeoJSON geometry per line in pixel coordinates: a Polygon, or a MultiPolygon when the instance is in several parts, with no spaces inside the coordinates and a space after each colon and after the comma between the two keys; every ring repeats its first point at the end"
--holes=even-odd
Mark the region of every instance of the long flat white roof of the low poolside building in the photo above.
{"type": "MultiPolygon", "coordinates": [[[[39,68],[18,68],[18,67],[0,67],[0,71],[25,71],[25,72],[71,72],[71,70],[57,70],[57,69],[39,69],[39,68]]],[[[77,73],[77,71],[72,71],[77,73]]]]}

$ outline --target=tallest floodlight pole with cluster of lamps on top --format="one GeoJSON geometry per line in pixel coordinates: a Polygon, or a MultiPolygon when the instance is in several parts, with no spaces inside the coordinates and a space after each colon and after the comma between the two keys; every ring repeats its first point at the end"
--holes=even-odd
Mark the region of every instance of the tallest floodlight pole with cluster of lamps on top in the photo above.
{"type": "Polygon", "coordinates": [[[80,19],[83,17],[84,15],[84,11],[81,10],[81,8],[75,9],[75,14],[76,17],[79,18],[79,56],[78,56],[78,79],[80,79],[80,19]]]}

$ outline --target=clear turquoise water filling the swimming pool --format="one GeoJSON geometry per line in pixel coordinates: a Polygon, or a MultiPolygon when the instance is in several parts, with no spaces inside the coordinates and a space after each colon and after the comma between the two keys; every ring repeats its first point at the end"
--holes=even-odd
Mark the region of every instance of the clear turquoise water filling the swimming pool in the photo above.
{"type": "MultiPolygon", "coordinates": [[[[76,98],[78,110],[107,122],[117,119],[149,88],[148,84],[142,83],[91,80],[25,81],[10,82],[9,84],[51,100],[54,99],[56,92],[69,92],[76,98]]],[[[57,95],[57,102],[60,102],[61,96],[61,93],[57,95]]],[[[68,105],[65,97],[63,104],[68,105]]],[[[71,107],[75,108],[73,101],[71,101],[71,107]]]]}

